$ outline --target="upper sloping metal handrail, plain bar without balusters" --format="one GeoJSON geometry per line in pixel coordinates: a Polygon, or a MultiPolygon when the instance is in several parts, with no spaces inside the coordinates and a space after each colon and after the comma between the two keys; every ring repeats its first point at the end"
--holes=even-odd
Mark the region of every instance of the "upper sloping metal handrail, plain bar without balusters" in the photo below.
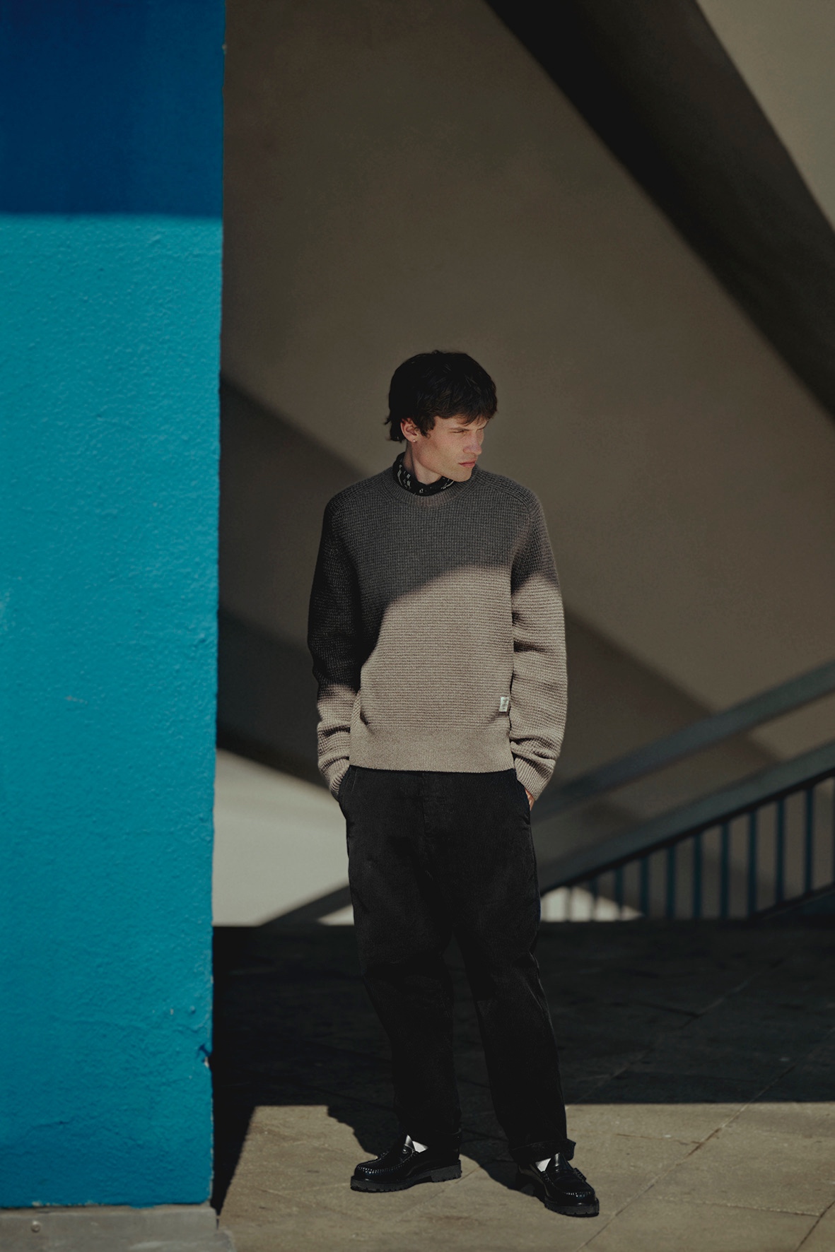
{"type": "Polygon", "coordinates": [[[733,735],[754,730],[765,722],[774,721],[786,712],[801,709],[822,696],[835,691],[835,661],[801,674],[799,677],[781,682],[769,691],[743,700],[741,704],[725,709],[722,712],[703,717],[701,721],[685,726],[672,735],[638,747],[634,752],[607,761],[596,770],[570,779],[558,790],[545,793],[534,809],[533,820],[540,824],[565,809],[613,791],[616,788],[634,782],[647,774],[672,765],[686,756],[701,752],[706,747],[721,744],[733,735]]]}

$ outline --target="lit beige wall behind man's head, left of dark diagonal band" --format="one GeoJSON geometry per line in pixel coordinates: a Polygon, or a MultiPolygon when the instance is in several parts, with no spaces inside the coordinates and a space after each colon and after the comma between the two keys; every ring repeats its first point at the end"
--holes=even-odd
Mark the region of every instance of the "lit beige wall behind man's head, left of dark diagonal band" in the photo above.
{"type": "Polygon", "coordinates": [[[489,6],[229,0],[228,49],[229,382],[374,473],[395,366],[464,348],[575,617],[711,710],[831,657],[831,417],[489,6]]]}

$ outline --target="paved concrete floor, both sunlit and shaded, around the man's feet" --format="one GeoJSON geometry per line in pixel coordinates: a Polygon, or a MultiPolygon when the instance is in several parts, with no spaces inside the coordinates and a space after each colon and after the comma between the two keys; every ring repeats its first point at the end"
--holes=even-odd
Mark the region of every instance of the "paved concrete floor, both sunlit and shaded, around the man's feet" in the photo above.
{"type": "Polygon", "coordinates": [[[539,959],[599,1218],[512,1189],[454,953],[464,1177],[351,1192],[394,1133],[352,931],[219,929],[216,1204],[238,1252],[831,1252],[835,933],[547,924],[539,959]]]}

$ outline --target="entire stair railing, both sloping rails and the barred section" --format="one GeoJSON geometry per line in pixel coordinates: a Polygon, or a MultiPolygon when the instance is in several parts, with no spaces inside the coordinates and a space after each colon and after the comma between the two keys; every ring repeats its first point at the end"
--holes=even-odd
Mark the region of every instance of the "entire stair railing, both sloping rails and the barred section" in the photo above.
{"type": "MultiPolygon", "coordinates": [[[[534,823],[832,691],[829,662],[547,793],[534,823]]],[[[802,905],[835,911],[834,793],[835,741],[540,864],[542,894],[580,889],[612,901],[619,918],[751,918],[802,905]]]]}

